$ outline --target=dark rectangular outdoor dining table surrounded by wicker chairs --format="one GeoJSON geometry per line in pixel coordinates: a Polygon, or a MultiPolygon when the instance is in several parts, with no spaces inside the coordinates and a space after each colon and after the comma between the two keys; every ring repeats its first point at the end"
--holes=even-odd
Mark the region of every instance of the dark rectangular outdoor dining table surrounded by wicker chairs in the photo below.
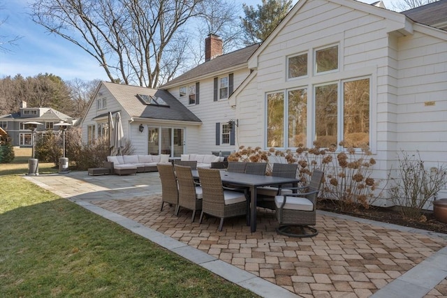
{"type": "MultiPolygon", "coordinates": [[[[193,177],[200,180],[198,170],[192,170],[193,177]]],[[[221,180],[223,184],[242,186],[249,188],[250,191],[250,229],[256,232],[256,188],[260,186],[281,186],[282,184],[292,184],[298,186],[299,180],[296,178],[262,176],[254,174],[244,174],[236,172],[226,172],[221,170],[221,180]]]]}

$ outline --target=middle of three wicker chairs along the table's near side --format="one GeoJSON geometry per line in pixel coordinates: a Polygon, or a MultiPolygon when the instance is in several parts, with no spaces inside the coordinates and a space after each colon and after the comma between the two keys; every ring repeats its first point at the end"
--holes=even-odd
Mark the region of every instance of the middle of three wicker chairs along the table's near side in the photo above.
{"type": "Polygon", "coordinates": [[[174,165],[175,174],[177,174],[177,182],[179,185],[179,204],[175,214],[179,214],[180,207],[193,211],[191,223],[196,218],[196,211],[202,210],[202,188],[196,185],[191,167],[183,165],[174,165]]]}

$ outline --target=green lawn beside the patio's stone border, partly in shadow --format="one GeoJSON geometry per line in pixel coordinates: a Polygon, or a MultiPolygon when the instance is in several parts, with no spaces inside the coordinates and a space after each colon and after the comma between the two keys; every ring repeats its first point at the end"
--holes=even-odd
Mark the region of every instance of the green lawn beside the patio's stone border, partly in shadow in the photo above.
{"type": "Polygon", "coordinates": [[[0,194],[1,297],[256,297],[19,175],[0,194]]]}

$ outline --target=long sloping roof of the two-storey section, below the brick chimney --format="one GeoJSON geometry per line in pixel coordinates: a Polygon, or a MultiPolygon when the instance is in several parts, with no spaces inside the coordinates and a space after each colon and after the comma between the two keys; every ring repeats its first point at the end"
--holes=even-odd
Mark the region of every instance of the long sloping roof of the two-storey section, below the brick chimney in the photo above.
{"type": "Polygon", "coordinates": [[[234,52],[223,54],[210,61],[206,61],[205,63],[186,71],[186,73],[175,77],[175,79],[170,80],[170,82],[163,84],[160,88],[167,89],[179,84],[186,84],[191,80],[196,82],[200,80],[201,77],[209,76],[212,73],[222,73],[223,70],[247,64],[248,59],[258,49],[259,45],[260,44],[249,45],[243,49],[235,50],[234,52]]]}

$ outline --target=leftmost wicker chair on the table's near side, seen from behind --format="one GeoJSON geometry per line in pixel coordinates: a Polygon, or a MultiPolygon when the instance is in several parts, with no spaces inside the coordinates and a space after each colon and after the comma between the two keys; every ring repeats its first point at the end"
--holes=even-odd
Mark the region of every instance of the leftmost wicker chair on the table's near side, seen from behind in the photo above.
{"type": "MultiPolygon", "coordinates": [[[[157,163],[161,179],[161,209],[163,211],[163,204],[174,204],[177,207],[179,203],[179,191],[177,188],[177,179],[175,179],[174,166],[170,163],[157,163]]],[[[174,209],[174,214],[176,212],[174,209]]]]}

